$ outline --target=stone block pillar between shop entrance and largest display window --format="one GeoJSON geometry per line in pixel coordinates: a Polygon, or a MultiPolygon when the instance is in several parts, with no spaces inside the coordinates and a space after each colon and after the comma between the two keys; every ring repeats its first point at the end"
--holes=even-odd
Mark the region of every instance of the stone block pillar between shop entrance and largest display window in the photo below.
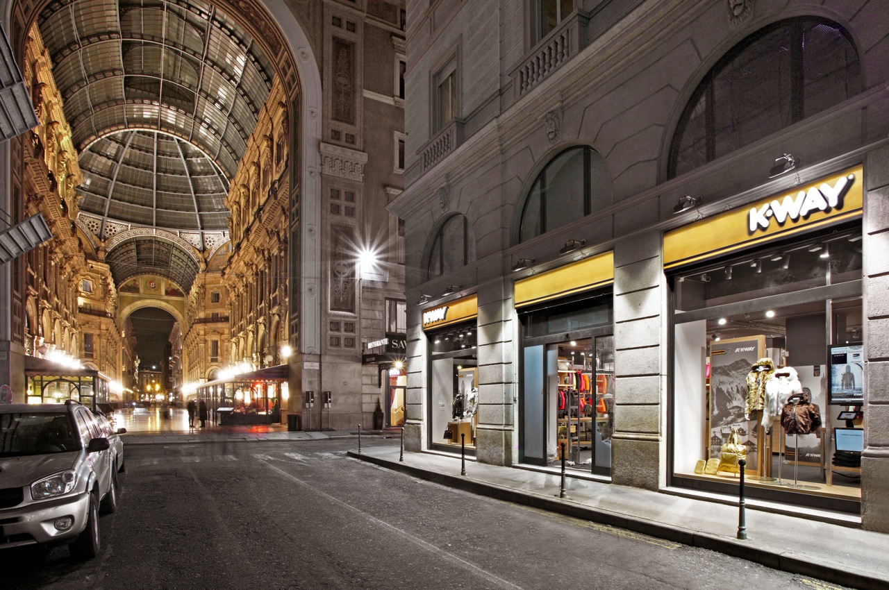
{"type": "Polygon", "coordinates": [[[666,482],[666,288],[661,232],[614,246],[614,483],[658,490],[666,482]]]}

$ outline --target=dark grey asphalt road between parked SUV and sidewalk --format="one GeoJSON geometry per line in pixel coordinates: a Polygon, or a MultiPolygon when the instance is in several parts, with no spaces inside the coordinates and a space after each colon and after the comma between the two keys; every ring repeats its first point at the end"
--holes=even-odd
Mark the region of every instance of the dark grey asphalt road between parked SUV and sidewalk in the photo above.
{"type": "Polygon", "coordinates": [[[423,482],[346,457],[355,445],[129,446],[120,505],[101,519],[100,556],[0,552],[0,587],[838,587],[423,482]]]}

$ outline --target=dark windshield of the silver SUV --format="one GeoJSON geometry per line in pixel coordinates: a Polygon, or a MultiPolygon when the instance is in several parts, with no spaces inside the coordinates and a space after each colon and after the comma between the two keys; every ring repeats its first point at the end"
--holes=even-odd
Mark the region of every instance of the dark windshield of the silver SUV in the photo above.
{"type": "Polygon", "coordinates": [[[80,448],[67,413],[0,413],[0,457],[44,455],[80,448]]]}

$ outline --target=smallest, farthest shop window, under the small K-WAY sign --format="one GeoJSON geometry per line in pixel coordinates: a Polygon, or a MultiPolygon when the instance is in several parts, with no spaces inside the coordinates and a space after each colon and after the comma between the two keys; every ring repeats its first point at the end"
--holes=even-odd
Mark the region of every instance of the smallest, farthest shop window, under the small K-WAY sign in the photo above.
{"type": "Polygon", "coordinates": [[[476,448],[476,335],[475,323],[458,323],[428,332],[432,351],[429,425],[431,442],[435,445],[476,448]]]}

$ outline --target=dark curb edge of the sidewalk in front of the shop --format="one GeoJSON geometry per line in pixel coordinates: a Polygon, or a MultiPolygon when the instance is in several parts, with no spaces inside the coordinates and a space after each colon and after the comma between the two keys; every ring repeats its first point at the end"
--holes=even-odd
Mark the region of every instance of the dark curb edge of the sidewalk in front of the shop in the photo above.
{"type": "Polygon", "coordinates": [[[592,506],[582,506],[560,498],[546,498],[524,491],[513,490],[493,483],[479,482],[466,479],[463,476],[442,474],[430,471],[422,467],[409,466],[397,461],[372,457],[354,450],[348,451],[348,457],[372,463],[373,465],[386,467],[393,471],[409,474],[428,482],[439,483],[457,490],[494,498],[506,502],[512,502],[522,506],[529,506],[547,510],[549,512],[573,516],[581,520],[607,524],[620,529],[632,530],[650,537],[681,543],[687,546],[709,549],[717,553],[738,557],[748,562],[759,563],[773,570],[786,571],[802,576],[811,576],[822,580],[853,586],[862,590],[885,590],[885,579],[874,578],[866,574],[851,570],[840,570],[838,567],[813,563],[791,554],[775,554],[757,546],[750,545],[740,540],[716,537],[707,533],[681,529],[661,522],[646,521],[628,514],[615,514],[592,506]]]}

